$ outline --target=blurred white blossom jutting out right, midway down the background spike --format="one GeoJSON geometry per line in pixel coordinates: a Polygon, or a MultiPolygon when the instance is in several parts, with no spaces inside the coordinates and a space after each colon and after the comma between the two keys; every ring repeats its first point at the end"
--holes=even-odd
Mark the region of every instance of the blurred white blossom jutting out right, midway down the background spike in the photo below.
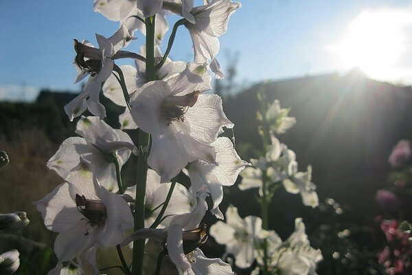
{"type": "Polygon", "coordinates": [[[316,186],[312,182],[312,166],[308,166],[306,172],[298,172],[290,179],[284,179],[282,183],[286,191],[292,194],[300,193],[305,206],[314,208],[319,205],[316,186]]]}

